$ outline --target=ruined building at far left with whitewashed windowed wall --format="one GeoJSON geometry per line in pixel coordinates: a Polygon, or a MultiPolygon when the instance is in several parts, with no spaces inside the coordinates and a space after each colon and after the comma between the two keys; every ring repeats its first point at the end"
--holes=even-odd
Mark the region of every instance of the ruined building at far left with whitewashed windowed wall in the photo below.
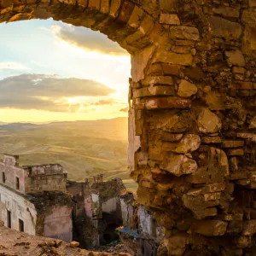
{"type": "Polygon", "coordinates": [[[65,193],[66,177],[60,165],[19,166],[17,156],[5,155],[0,163],[0,219],[5,226],[72,241],[72,197],[65,193]]]}

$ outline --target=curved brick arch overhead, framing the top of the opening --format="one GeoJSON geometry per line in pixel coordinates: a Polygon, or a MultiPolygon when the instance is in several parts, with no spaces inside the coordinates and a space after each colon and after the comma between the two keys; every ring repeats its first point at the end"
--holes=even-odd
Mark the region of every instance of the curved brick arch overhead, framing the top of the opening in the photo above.
{"type": "Polygon", "coordinates": [[[130,0],[1,0],[0,23],[18,20],[61,20],[99,31],[130,54],[154,44],[163,26],[130,0]]]}

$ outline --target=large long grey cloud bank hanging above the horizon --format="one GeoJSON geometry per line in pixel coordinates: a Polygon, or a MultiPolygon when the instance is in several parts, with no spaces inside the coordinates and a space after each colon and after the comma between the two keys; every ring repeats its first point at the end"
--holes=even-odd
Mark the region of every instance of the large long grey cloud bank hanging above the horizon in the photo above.
{"type": "Polygon", "coordinates": [[[92,80],[22,74],[0,80],[0,108],[77,112],[86,104],[70,104],[68,98],[109,96],[113,92],[106,85],[92,80]]]}

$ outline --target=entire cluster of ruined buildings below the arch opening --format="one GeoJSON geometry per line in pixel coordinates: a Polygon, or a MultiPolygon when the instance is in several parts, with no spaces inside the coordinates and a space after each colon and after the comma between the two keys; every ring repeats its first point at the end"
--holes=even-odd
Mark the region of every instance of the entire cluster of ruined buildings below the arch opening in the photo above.
{"type": "MultiPolygon", "coordinates": [[[[140,241],[134,242],[131,252],[146,249],[150,254],[141,255],[156,255],[155,230],[160,227],[145,207],[137,206],[120,178],[104,182],[99,174],[73,182],[59,164],[20,166],[17,155],[4,155],[0,173],[0,219],[6,227],[34,236],[79,241],[81,247],[91,250],[117,241],[119,236],[125,242],[127,233],[137,230],[140,241]]],[[[130,235],[128,238],[130,241],[130,235]]]]}

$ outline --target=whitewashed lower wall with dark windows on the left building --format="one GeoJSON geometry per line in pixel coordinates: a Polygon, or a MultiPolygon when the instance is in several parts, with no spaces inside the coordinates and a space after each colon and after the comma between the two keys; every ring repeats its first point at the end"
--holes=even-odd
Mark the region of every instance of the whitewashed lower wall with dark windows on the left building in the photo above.
{"type": "Polygon", "coordinates": [[[20,230],[19,219],[24,223],[24,232],[36,235],[37,210],[29,201],[29,196],[0,184],[0,219],[9,226],[8,212],[11,214],[11,229],[20,230]]]}

